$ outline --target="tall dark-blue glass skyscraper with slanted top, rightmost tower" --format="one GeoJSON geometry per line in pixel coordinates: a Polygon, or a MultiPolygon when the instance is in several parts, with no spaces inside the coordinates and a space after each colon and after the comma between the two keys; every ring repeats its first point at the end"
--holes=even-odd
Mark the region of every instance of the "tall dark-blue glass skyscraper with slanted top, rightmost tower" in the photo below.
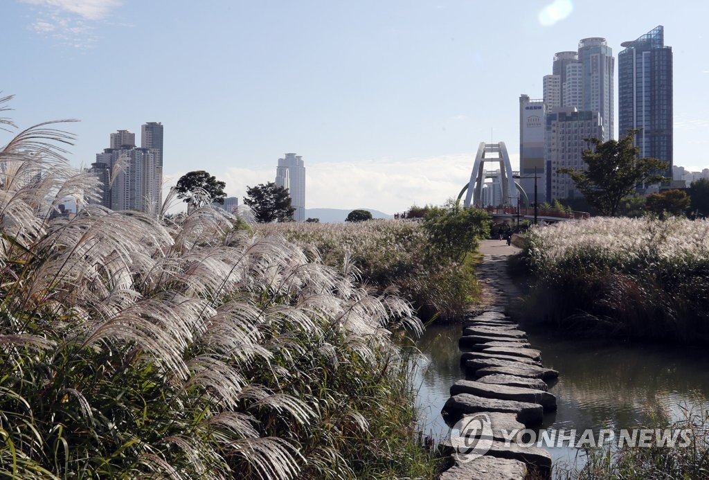
{"type": "Polygon", "coordinates": [[[637,40],[621,44],[618,54],[618,130],[640,130],[635,145],[641,157],[667,162],[672,176],[672,48],[659,25],[637,40]]]}

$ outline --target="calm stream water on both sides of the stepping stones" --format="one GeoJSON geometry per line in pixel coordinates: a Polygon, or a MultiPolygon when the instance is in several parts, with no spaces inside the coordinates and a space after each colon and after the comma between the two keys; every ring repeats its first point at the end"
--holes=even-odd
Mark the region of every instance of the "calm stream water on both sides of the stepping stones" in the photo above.
{"type": "MultiPolygon", "coordinates": [[[[450,431],[440,415],[450,386],[465,378],[460,335],[460,325],[432,325],[417,342],[420,429],[436,441],[450,431]]],[[[559,380],[549,388],[557,396],[557,411],[545,415],[542,430],[592,429],[597,435],[601,429],[647,425],[657,411],[669,411],[673,420],[680,420],[685,409],[709,398],[709,355],[700,348],[527,336],[542,352],[545,367],[559,371],[559,380]]],[[[562,468],[580,453],[573,447],[547,450],[562,468]]]]}

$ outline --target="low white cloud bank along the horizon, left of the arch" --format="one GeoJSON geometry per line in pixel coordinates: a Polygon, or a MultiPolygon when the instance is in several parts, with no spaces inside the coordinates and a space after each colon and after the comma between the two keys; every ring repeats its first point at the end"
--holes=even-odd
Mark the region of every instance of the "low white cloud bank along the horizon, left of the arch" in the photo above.
{"type": "MultiPolygon", "coordinates": [[[[474,157],[474,152],[469,152],[406,161],[306,161],[306,208],[374,208],[391,214],[406,211],[412,205],[440,205],[456,198],[467,184],[474,157]]],[[[516,168],[518,156],[510,157],[516,168]]],[[[175,184],[183,173],[166,177],[175,184]]],[[[274,181],[276,166],[274,163],[269,168],[230,168],[210,173],[226,182],[228,196],[238,196],[241,204],[247,185],[274,181]]]]}

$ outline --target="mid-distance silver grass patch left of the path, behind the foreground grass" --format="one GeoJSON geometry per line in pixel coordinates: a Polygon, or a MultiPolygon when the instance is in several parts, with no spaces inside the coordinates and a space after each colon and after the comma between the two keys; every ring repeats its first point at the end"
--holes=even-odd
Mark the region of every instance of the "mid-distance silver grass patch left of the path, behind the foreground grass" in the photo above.
{"type": "Polygon", "coordinates": [[[346,259],[348,268],[378,294],[394,288],[424,320],[457,320],[479,296],[472,259],[437,255],[437,245],[416,221],[270,223],[258,229],[306,249],[315,247],[333,267],[346,259]]]}

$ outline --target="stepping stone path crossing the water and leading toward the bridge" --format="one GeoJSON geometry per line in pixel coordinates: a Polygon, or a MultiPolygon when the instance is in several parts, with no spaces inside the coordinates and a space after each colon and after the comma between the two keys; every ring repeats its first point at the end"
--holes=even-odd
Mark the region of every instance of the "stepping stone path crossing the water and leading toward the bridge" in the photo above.
{"type": "Polygon", "coordinates": [[[548,392],[547,382],[559,372],[543,366],[544,352],[534,350],[527,333],[506,314],[519,296],[506,269],[514,247],[496,240],[483,244],[483,262],[476,272],[482,311],[464,321],[459,338],[461,364],[471,379],[451,386],[441,411],[453,430],[440,445],[442,452],[452,454],[452,467],[440,479],[548,478],[549,452],[518,444],[511,432],[537,427],[545,411],[556,410],[557,398],[548,392]]]}

